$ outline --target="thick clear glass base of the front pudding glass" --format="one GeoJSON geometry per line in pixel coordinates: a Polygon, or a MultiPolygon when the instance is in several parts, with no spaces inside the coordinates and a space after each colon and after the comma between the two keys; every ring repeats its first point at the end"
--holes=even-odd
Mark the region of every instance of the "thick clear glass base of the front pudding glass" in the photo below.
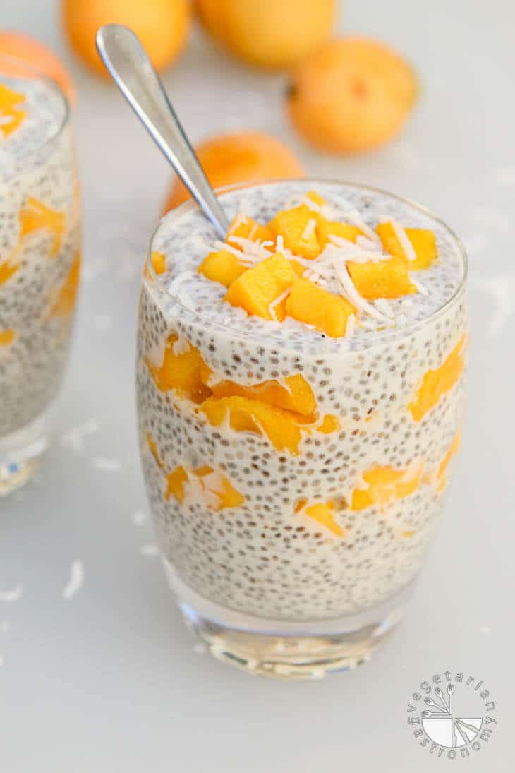
{"type": "Polygon", "coordinates": [[[185,585],[163,559],[171,588],[191,632],[222,662],[282,679],[320,679],[371,659],[405,613],[413,582],[388,602],[324,621],[290,622],[244,615],[185,585]]]}

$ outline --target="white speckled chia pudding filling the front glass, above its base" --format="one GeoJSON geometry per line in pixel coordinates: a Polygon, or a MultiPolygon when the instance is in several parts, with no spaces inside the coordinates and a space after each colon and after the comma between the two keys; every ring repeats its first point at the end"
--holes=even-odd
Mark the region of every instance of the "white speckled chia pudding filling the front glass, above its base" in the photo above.
{"type": "Polygon", "coordinates": [[[222,205],[229,219],[245,213],[266,224],[313,189],[334,220],[358,213],[370,229],[395,220],[432,230],[439,257],[410,272],[418,292],[370,301],[375,311],[358,310],[339,338],[290,317],[248,315],[198,273],[217,237],[184,205],[154,237],[164,270],[144,272],[138,325],[141,458],[163,556],[210,601],[285,621],[373,608],[418,573],[458,448],[467,348],[465,257],[422,209],[313,181],[225,192],[222,205]],[[211,373],[197,400],[156,378],[167,342],[178,368],[197,352],[211,373]],[[253,431],[235,428],[203,410],[217,383],[288,390],[291,376],[316,400],[314,414],[298,420],[295,447],[278,448],[258,420],[253,431]],[[235,495],[220,493],[228,489],[235,495]]]}

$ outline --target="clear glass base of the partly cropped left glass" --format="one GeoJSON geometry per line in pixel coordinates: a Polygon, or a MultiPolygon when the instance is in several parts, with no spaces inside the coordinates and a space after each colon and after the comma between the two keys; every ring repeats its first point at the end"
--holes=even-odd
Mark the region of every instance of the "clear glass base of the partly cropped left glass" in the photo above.
{"type": "Polygon", "coordinates": [[[38,471],[49,447],[50,409],[0,438],[0,496],[25,485],[38,471]]]}

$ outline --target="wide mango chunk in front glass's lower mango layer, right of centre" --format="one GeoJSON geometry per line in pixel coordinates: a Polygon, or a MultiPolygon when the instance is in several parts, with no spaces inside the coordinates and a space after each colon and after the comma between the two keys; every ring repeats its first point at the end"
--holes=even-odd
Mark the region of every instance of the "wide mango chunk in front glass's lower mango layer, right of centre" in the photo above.
{"type": "Polygon", "coordinates": [[[418,489],[423,472],[422,464],[413,465],[405,470],[396,470],[390,466],[369,468],[363,473],[364,487],[354,489],[351,509],[384,507],[388,502],[405,499],[418,489]]]}

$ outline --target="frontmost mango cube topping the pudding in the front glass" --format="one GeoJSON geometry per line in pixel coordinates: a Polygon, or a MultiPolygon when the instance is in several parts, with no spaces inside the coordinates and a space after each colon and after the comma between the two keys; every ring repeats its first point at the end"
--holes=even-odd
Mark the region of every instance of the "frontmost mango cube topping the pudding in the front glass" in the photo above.
{"type": "Polygon", "coordinates": [[[354,314],[354,306],[345,298],[297,277],[286,300],[286,313],[299,322],[306,322],[326,335],[337,338],[345,335],[347,319],[354,314]]]}

